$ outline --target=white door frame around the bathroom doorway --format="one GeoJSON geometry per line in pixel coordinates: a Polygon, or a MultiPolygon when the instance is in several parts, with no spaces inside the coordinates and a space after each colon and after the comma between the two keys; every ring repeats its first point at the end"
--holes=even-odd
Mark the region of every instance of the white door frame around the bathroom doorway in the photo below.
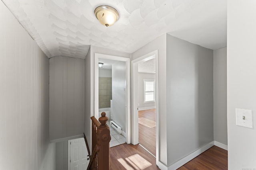
{"type": "Polygon", "coordinates": [[[130,113],[130,58],[118,57],[114,55],[106,55],[95,53],[94,63],[94,117],[99,118],[99,58],[110,59],[116,61],[124,61],[126,63],[126,143],[131,143],[131,113],[130,113]]]}

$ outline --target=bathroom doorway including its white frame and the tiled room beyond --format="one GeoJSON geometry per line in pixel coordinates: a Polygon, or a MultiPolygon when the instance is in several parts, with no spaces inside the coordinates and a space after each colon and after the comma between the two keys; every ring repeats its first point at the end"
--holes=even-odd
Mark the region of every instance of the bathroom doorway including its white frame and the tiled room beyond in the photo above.
{"type": "Polygon", "coordinates": [[[130,143],[130,59],[95,54],[95,117],[109,118],[110,147],[130,143]],[[99,67],[98,63],[103,63],[99,67]]]}

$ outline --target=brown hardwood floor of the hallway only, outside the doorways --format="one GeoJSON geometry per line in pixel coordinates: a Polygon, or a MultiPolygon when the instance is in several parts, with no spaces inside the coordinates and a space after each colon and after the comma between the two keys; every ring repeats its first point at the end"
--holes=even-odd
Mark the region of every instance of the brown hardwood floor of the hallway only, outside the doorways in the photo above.
{"type": "MultiPolygon", "coordinates": [[[[110,170],[159,170],[156,159],[140,145],[122,144],[110,148],[110,170]]],[[[227,170],[228,151],[213,146],[178,170],[227,170]]]]}

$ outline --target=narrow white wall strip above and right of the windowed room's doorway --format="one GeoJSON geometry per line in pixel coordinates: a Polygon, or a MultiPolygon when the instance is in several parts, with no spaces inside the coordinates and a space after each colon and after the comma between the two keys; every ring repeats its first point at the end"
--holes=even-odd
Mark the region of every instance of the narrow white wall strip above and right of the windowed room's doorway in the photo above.
{"type": "Polygon", "coordinates": [[[166,143],[166,34],[154,39],[144,47],[132,53],[132,60],[158,49],[159,79],[159,160],[167,165],[166,143]]]}

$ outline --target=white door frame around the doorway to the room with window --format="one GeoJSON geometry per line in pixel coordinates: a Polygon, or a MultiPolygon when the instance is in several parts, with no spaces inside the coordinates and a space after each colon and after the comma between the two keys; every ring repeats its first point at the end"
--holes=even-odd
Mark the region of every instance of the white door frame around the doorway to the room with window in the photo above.
{"type": "Polygon", "coordinates": [[[159,160],[159,100],[158,100],[158,50],[152,51],[142,57],[132,61],[132,144],[139,143],[139,123],[138,123],[138,64],[156,59],[156,162],[159,160]]]}

